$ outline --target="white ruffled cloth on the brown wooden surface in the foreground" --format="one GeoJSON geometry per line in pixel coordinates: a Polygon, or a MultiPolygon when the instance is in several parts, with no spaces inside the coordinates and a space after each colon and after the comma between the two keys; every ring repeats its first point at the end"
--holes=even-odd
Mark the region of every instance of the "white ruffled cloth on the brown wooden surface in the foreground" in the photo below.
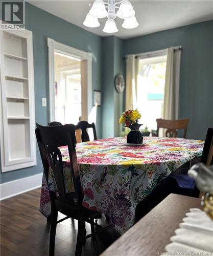
{"type": "Polygon", "coordinates": [[[213,255],[213,221],[204,211],[190,209],[179,226],[170,239],[172,243],[165,246],[166,255],[213,255]]]}

